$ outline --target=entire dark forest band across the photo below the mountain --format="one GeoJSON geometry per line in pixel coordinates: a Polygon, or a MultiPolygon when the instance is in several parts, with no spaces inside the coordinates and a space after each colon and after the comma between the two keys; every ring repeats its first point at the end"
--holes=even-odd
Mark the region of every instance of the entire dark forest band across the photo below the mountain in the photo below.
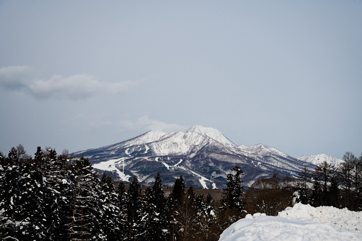
{"type": "Polygon", "coordinates": [[[325,162],[295,179],[274,173],[247,190],[236,165],[215,195],[185,187],[182,176],[167,191],[159,173],[151,187],[136,176],[116,183],[67,150],[38,147],[33,158],[18,145],[8,156],[0,153],[0,239],[216,241],[247,213],[277,215],[295,202],[361,210],[362,155],[346,152],[343,159],[337,168],[325,162]]]}

